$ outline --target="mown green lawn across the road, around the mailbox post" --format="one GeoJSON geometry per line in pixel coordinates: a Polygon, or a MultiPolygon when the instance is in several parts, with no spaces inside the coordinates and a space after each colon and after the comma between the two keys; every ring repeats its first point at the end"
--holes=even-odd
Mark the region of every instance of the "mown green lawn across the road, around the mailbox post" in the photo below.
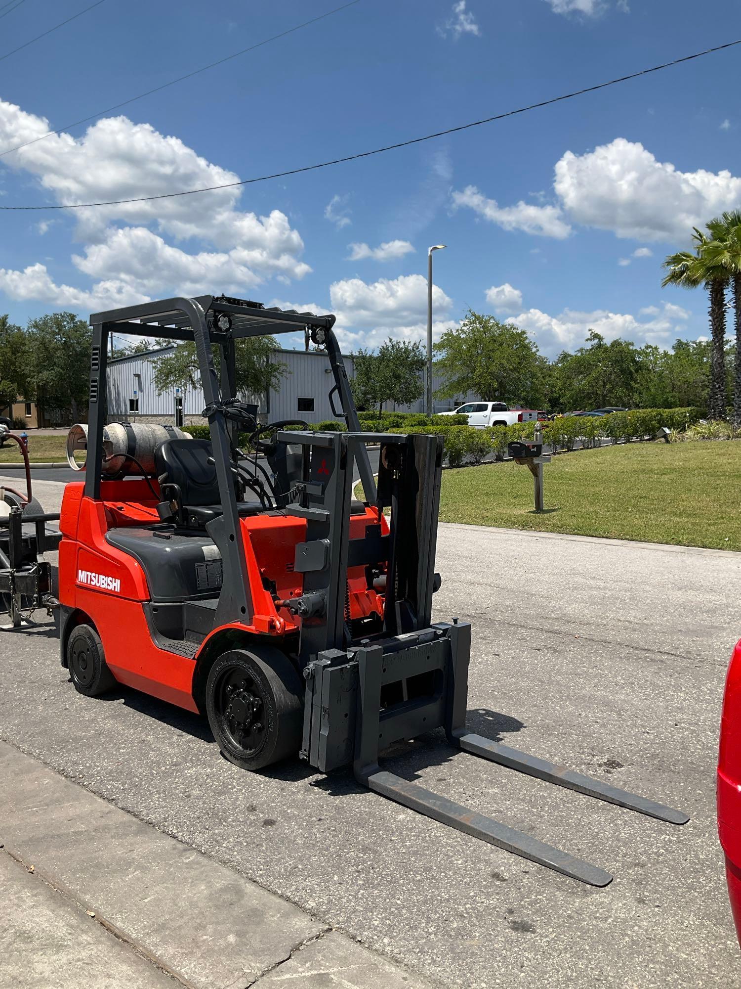
{"type": "Polygon", "coordinates": [[[440,519],[741,550],[741,442],[630,443],[558,454],[533,476],[511,462],[443,472],[440,519]]]}

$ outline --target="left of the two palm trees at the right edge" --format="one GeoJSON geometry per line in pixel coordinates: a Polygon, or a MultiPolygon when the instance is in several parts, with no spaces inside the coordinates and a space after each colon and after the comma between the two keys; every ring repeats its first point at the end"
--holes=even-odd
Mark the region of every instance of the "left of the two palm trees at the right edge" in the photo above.
{"type": "Polygon", "coordinates": [[[678,251],[664,261],[669,274],[661,283],[679,285],[683,289],[696,289],[704,285],[710,300],[710,332],[712,337],[710,357],[710,402],[708,412],[711,419],[725,417],[725,287],[729,281],[726,268],[719,264],[707,247],[713,241],[713,233],[720,233],[720,227],[708,225],[707,236],[695,227],[693,241],[695,253],[678,251]]]}

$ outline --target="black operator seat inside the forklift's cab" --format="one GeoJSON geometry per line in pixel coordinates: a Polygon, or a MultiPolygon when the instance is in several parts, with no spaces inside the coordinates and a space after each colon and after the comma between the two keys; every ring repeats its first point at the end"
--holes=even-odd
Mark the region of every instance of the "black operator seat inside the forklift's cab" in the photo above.
{"type": "Polygon", "coordinates": [[[223,513],[213,450],[207,439],[166,439],[154,451],[160,491],[185,525],[201,528],[223,513]]]}

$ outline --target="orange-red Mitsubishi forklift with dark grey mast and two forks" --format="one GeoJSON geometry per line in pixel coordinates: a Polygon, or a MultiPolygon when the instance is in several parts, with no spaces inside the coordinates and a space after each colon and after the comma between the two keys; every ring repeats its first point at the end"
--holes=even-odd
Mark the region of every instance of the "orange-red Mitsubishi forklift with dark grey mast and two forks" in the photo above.
{"type": "Polygon", "coordinates": [[[604,869],[379,765],[392,743],[443,728],[456,749],[688,820],[466,730],[470,625],[432,620],[442,440],[361,431],[334,322],[223,296],[91,316],[86,476],[67,485],[60,516],[62,666],[88,696],[121,683],[206,714],[221,753],[245,769],[295,757],[322,772],[352,765],[405,807],[606,886],[604,869]],[[114,332],[195,342],[209,440],[160,427],[153,445],[140,423],[106,425],[114,332]],[[236,341],[296,332],[326,352],[347,431],[261,425],[237,395],[236,341]],[[379,446],[377,483],[369,444],[379,446]]]}

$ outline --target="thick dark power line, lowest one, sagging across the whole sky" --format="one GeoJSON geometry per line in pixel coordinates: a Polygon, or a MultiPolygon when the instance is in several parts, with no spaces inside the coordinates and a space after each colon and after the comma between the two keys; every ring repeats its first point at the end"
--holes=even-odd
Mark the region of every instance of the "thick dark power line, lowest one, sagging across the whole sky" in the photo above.
{"type": "Polygon", "coordinates": [[[393,151],[399,147],[408,147],[410,144],[420,144],[425,140],[433,140],[436,137],[445,137],[450,134],[457,134],[460,131],[467,131],[470,128],[481,127],[482,124],[491,124],[494,121],[505,120],[507,117],[516,117],[518,114],[528,113],[530,110],[538,110],[541,107],[549,107],[554,103],[562,103],[564,100],[571,100],[575,96],[583,96],[585,93],[594,93],[598,89],[606,89],[608,86],[616,86],[617,83],[627,82],[629,79],[637,79],[651,72],[659,72],[664,68],[671,68],[682,62],[692,61],[694,58],[701,58],[714,51],[723,51],[725,48],[732,48],[741,45],[741,39],[735,42],[727,42],[725,45],[715,45],[712,48],[705,48],[703,51],[696,51],[695,54],[685,55],[682,58],[675,58],[673,61],[663,62],[661,65],[653,65],[651,68],[641,69],[639,72],[631,72],[629,75],[619,76],[609,82],[601,82],[594,86],[587,86],[584,89],[577,89],[573,93],[565,93],[563,96],[554,96],[549,100],[542,100],[540,103],[531,103],[527,107],[520,107],[518,110],[509,110],[507,113],[496,114],[493,117],[486,117],[480,121],[472,121],[470,124],[460,124],[457,127],[448,128],[446,131],[437,131],[435,134],[424,135],[423,137],[410,137],[408,140],[400,140],[395,144],[386,144],[384,147],[376,147],[371,151],[360,151],[358,154],[348,154],[343,158],[333,158],[330,161],[322,161],[315,165],[303,165],[300,168],[289,168],[284,172],[273,172],[270,175],[260,175],[254,179],[242,179],[239,182],[224,182],[221,185],[206,186],[203,189],[186,189],[182,192],[160,193],[158,196],[139,196],[135,199],[113,199],[100,203],[72,203],[67,206],[0,206],[0,210],[84,210],[96,206],[124,206],[129,203],[150,203],[157,199],[175,199],[178,196],[196,196],[203,192],[215,192],[218,189],[233,189],[235,186],[253,185],[256,182],[267,182],[269,179],[285,178],[287,175],[298,175],[301,172],[312,172],[318,168],[327,168],[330,165],[340,165],[347,161],[357,161],[359,158],[370,158],[374,154],[382,154],[384,151],[393,151]]]}

